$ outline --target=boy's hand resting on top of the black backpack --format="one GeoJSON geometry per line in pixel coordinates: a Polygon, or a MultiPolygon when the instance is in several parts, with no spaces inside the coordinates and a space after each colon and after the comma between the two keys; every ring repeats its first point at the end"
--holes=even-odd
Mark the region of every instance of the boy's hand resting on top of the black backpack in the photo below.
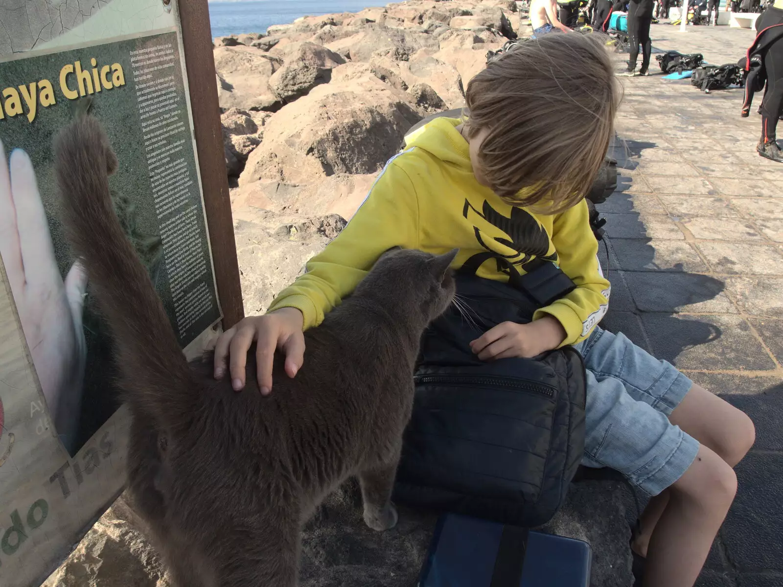
{"type": "Polygon", "coordinates": [[[471,350],[482,361],[497,358],[530,358],[559,347],[565,329],[553,316],[544,316],[529,324],[502,322],[471,342],[471,350]]]}

